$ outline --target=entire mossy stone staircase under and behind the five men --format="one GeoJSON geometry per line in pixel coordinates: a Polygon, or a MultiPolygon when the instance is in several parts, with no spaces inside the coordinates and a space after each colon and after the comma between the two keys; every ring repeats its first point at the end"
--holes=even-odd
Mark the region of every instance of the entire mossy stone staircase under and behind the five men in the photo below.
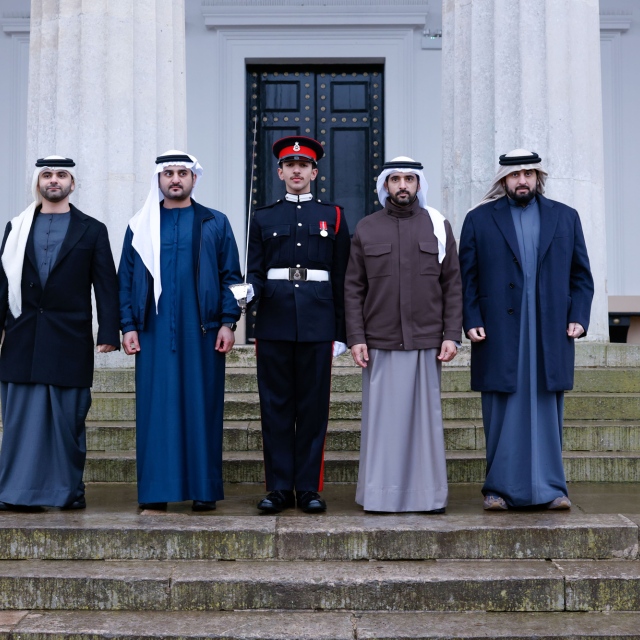
{"type": "Polygon", "coordinates": [[[212,514],[140,514],[133,372],[97,370],[89,508],[0,514],[0,639],[640,638],[640,350],[578,347],[564,429],[570,513],[482,512],[466,349],[443,370],[444,516],[353,504],[360,373],[346,356],[333,376],[329,511],[258,516],[246,348],[228,361],[227,499],[212,514]]]}

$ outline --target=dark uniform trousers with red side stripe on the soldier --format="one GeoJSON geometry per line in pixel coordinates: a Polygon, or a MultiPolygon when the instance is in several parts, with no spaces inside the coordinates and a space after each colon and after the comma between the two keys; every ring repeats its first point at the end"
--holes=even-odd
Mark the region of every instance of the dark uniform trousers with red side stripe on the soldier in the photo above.
{"type": "Polygon", "coordinates": [[[322,490],[332,345],[258,340],[267,491],[322,490]]]}

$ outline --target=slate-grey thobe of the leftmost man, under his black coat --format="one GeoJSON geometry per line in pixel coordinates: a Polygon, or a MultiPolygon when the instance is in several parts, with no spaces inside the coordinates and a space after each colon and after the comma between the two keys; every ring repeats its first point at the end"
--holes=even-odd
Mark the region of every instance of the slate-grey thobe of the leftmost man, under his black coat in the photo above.
{"type": "MultiPolygon", "coordinates": [[[[40,213],[33,247],[44,287],[71,214],[40,213]]],[[[91,390],[1,382],[0,502],[63,507],[84,495],[85,419],[91,390]]]]}

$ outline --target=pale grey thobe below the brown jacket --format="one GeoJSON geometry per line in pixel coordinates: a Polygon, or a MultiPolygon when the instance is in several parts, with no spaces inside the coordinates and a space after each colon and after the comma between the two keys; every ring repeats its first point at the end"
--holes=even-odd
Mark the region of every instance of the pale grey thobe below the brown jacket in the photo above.
{"type": "Polygon", "coordinates": [[[356,502],[366,511],[447,505],[439,349],[369,349],[356,502]]]}

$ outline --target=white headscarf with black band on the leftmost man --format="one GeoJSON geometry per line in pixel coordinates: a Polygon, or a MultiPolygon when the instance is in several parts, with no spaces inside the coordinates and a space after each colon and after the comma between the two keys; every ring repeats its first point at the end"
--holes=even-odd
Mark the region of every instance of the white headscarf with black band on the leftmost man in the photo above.
{"type": "Polygon", "coordinates": [[[33,202],[19,215],[11,220],[11,231],[7,236],[2,254],[2,267],[7,275],[9,285],[9,310],[14,318],[22,314],[22,267],[24,266],[24,252],[33,224],[36,207],[42,204],[42,195],[38,189],[38,179],[43,171],[64,170],[76,182],[76,172],[70,164],[73,160],[63,156],[47,156],[38,160],[31,180],[33,202]],[[61,162],[62,161],[62,162],[61,162]],[[44,164],[49,162],[50,164],[44,164]],[[40,165],[40,166],[38,166],[40,165]]]}

